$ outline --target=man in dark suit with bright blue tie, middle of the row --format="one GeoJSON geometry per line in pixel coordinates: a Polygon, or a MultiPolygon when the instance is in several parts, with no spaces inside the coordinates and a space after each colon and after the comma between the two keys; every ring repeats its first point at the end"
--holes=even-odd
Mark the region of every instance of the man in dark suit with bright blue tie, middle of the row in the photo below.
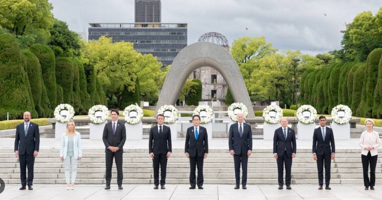
{"type": "Polygon", "coordinates": [[[204,127],[199,126],[200,116],[192,116],[194,126],[189,127],[186,133],[184,152],[190,158],[190,185],[189,189],[195,189],[195,167],[198,166],[198,189],[203,189],[203,161],[208,154],[208,135],[204,127]]]}

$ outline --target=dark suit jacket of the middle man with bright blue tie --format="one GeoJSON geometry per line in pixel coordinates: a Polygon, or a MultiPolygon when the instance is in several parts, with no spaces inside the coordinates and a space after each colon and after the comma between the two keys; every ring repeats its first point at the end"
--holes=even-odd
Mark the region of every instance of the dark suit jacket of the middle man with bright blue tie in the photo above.
{"type": "Polygon", "coordinates": [[[199,156],[202,157],[204,156],[204,153],[208,154],[208,135],[207,135],[207,130],[199,126],[198,130],[198,140],[195,138],[195,133],[194,133],[194,126],[191,126],[187,129],[186,133],[186,144],[184,146],[184,153],[187,153],[191,157],[199,156]]]}

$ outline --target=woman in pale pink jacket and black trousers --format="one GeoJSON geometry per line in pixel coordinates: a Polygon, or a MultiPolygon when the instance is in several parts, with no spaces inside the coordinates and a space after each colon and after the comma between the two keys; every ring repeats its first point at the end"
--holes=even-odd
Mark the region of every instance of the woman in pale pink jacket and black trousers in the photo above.
{"type": "Polygon", "coordinates": [[[365,125],[367,130],[362,132],[359,139],[359,146],[362,148],[362,168],[363,168],[363,183],[365,190],[369,187],[374,190],[375,185],[375,168],[377,165],[378,152],[377,148],[381,145],[380,135],[373,130],[374,121],[372,119],[366,119],[365,125]],[[370,179],[368,175],[370,164],[370,179]]]}

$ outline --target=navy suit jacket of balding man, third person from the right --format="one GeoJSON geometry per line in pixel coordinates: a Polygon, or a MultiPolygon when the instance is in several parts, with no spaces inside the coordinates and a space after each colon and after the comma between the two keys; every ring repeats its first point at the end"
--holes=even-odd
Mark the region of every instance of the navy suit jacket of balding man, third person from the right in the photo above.
{"type": "Polygon", "coordinates": [[[284,130],[282,127],[275,130],[273,136],[273,153],[277,156],[286,155],[292,157],[292,153],[296,154],[296,133],[293,129],[287,127],[286,140],[284,139],[284,130]]]}

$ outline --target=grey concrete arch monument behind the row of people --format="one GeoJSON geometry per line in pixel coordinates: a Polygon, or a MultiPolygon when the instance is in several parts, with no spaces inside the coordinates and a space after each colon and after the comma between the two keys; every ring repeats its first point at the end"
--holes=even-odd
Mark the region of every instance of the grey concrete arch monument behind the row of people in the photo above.
{"type": "Polygon", "coordinates": [[[251,99],[239,67],[225,48],[209,42],[190,44],[178,53],[164,81],[156,111],[163,105],[174,105],[188,76],[195,69],[205,66],[215,68],[222,74],[234,101],[244,103],[248,108],[247,118],[254,118],[251,99]]]}

